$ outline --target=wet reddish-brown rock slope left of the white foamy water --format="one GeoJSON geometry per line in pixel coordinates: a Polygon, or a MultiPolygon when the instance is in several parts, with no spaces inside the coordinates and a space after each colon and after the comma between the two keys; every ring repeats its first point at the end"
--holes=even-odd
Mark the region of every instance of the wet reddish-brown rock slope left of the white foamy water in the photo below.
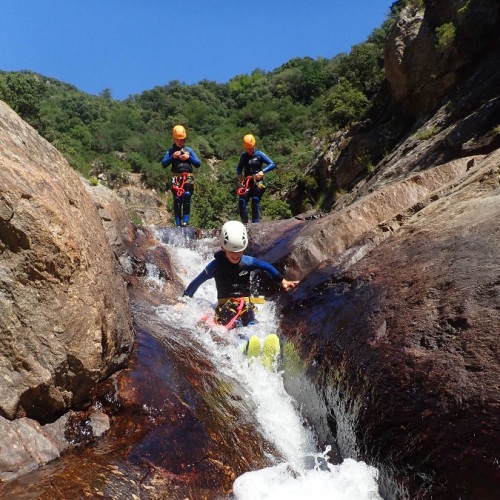
{"type": "MultiPolygon", "coordinates": [[[[154,256],[153,242],[141,229],[129,257],[154,256]]],[[[165,277],[148,288],[149,277],[130,276],[136,347],[127,369],[99,385],[92,405],[101,412],[84,422],[96,436],[107,415],[109,432],[91,446],[73,447],[52,464],[0,484],[0,496],[223,498],[238,475],[271,465],[276,450],[257,427],[244,389],[217,373],[201,346],[182,334],[181,324],[158,321],[155,308],[172,301],[176,287],[165,277]]],[[[40,465],[32,462],[32,469],[40,465]]]]}

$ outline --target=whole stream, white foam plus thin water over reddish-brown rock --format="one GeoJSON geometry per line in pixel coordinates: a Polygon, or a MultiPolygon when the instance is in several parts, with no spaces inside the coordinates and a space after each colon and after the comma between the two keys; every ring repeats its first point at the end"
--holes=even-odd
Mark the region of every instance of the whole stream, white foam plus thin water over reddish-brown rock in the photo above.
{"type": "Polygon", "coordinates": [[[257,324],[229,332],[210,321],[213,280],[194,298],[165,303],[158,291],[186,286],[218,245],[192,230],[157,229],[156,238],[176,276],[166,282],[146,263],[146,290],[131,295],[136,349],[93,402],[111,416],[110,430],[0,487],[0,497],[380,499],[377,469],[332,463],[336,443],[320,448],[307,408],[285,390],[282,364],[271,371],[243,355],[245,336],[277,331],[274,303],[258,306],[257,324]]]}

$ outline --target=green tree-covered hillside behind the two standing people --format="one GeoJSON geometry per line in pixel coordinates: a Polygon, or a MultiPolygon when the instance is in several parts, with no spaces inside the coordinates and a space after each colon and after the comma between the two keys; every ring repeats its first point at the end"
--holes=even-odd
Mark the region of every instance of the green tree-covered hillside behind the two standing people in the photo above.
{"type": "Polygon", "coordinates": [[[185,125],[187,145],[202,160],[192,219],[204,228],[237,216],[235,169],[242,137],[253,133],[258,149],[277,165],[266,176],[262,214],[268,219],[290,217],[287,193],[298,183],[314,182],[303,174],[312,157],[312,137],[362,120],[369,111],[383,80],[382,52],[390,22],[349,54],[296,58],[274,71],[256,69],[225,84],[172,81],[116,101],[109,89],[93,96],[31,72],[0,72],[0,99],[75,169],[86,177],[105,173],[111,185],[135,172],[147,186],[168,189],[170,172],[160,162],[172,144],[172,127],[185,125]]]}

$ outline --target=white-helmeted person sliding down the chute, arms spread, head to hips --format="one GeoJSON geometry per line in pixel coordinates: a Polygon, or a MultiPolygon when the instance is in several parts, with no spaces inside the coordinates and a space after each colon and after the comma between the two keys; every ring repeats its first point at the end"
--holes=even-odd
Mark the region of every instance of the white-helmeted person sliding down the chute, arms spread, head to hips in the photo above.
{"type": "Polygon", "coordinates": [[[214,278],[219,305],[215,314],[216,323],[233,326],[247,326],[255,322],[250,292],[250,273],[265,271],[284,290],[291,290],[298,281],[288,281],[266,261],[244,255],[248,245],[246,227],[239,221],[228,221],[221,229],[222,249],[214,255],[205,269],[188,285],[184,295],[192,297],[199,286],[214,278]]]}

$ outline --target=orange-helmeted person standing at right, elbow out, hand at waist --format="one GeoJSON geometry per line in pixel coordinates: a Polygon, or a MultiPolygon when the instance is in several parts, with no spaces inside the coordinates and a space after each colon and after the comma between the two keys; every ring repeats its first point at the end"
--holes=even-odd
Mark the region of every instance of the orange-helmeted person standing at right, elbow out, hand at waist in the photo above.
{"type": "Polygon", "coordinates": [[[250,200],[252,200],[252,222],[259,222],[260,199],[266,189],[264,174],[276,167],[276,164],[262,151],[255,149],[256,142],[252,134],[243,137],[245,152],[236,167],[238,180],[242,184],[238,189],[238,205],[240,218],[244,224],[248,222],[247,204],[250,200]]]}

